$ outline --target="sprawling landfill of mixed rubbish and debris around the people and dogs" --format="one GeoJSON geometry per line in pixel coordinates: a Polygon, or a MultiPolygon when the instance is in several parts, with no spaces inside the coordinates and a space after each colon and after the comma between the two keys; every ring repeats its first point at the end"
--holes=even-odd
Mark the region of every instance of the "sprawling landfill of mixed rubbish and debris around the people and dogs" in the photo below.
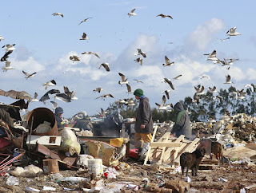
{"type": "Polygon", "coordinates": [[[76,115],[58,131],[48,110],[34,109],[14,130],[1,120],[0,192],[256,192],[254,116],[191,122],[196,140],[174,138],[172,121],[154,123],[152,148],[142,162],[136,159],[132,118],[76,115]],[[182,175],[178,149],[192,151],[204,139],[222,144],[223,163],[206,155],[198,176],[182,175]],[[167,152],[177,159],[165,160],[167,152]]]}

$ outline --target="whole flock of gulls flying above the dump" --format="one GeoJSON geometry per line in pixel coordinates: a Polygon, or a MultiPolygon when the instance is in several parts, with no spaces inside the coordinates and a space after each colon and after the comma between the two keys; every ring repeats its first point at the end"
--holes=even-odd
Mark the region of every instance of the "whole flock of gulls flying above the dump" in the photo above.
{"type": "MultiPolygon", "coordinates": [[[[54,13],[52,15],[53,16],[60,16],[60,17],[64,18],[64,15],[61,14],[61,13],[54,13]]],[[[135,13],[135,9],[131,10],[130,13],[128,13],[129,18],[131,16],[134,17],[136,15],[137,14],[135,13]]],[[[170,15],[165,15],[165,14],[158,14],[156,17],[173,19],[170,15]]],[[[92,19],[92,18],[83,19],[82,22],[78,23],[78,25],[81,25],[83,22],[88,22],[89,19],[92,19]]],[[[230,30],[228,30],[226,32],[226,34],[229,37],[226,37],[224,39],[220,39],[221,41],[230,40],[230,37],[241,35],[241,33],[236,32],[236,27],[233,27],[230,30]]],[[[4,37],[0,36],[0,41],[2,41],[2,40],[4,40],[4,37]]],[[[86,33],[82,33],[82,38],[80,38],[80,40],[82,40],[82,41],[89,40],[89,37],[87,37],[86,33]]],[[[7,44],[7,45],[2,46],[2,48],[5,48],[5,50],[6,50],[4,56],[1,58],[2,62],[4,62],[4,61],[6,62],[6,65],[2,67],[2,70],[4,72],[6,72],[10,69],[14,69],[12,66],[10,66],[10,61],[8,61],[8,57],[9,57],[10,53],[12,53],[15,50],[14,45],[15,44],[13,44],[13,45],[7,44]]],[[[98,53],[94,53],[94,52],[91,52],[91,51],[87,51],[87,52],[84,52],[82,54],[91,54],[91,55],[94,55],[94,57],[100,58],[98,56],[98,53]]],[[[134,61],[138,62],[139,65],[142,65],[143,59],[145,59],[147,57],[146,55],[147,54],[145,52],[143,52],[142,49],[138,48],[136,50],[136,52],[134,53],[134,56],[138,56],[138,58],[136,58],[134,61]]],[[[207,59],[206,59],[207,61],[213,61],[214,63],[222,64],[222,66],[228,66],[227,69],[230,69],[230,65],[233,65],[234,61],[238,61],[238,59],[234,59],[234,58],[228,58],[228,59],[223,58],[223,60],[220,60],[217,57],[217,51],[216,50],[214,50],[212,53],[206,53],[204,55],[207,56],[207,59]]],[[[170,67],[170,66],[174,65],[174,61],[170,61],[170,59],[167,56],[165,56],[164,59],[165,59],[164,60],[165,63],[162,64],[163,67],[170,67]]],[[[72,55],[72,56],[70,56],[70,61],[76,62],[76,61],[80,61],[80,59],[79,59],[78,56],[72,55]]],[[[101,68],[104,68],[106,70],[106,72],[110,72],[110,64],[107,63],[107,62],[102,63],[101,65],[99,65],[98,69],[101,69],[101,68]]],[[[22,70],[22,73],[24,73],[24,75],[26,76],[25,77],[26,79],[32,78],[36,75],[36,72],[26,73],[24,70],[22,70]]],[[[130,93],[132,94],[133,90],[130,87],[130,82],[128,81],[128,78],[123,73],[118,73],[118,75],[121,77],[121,80],[118,81],[118,84],[121,85],[121,86],[126,85],[126,89],[127,89],[126,93],[127,94],[130,94],[130,93]]],[[[181,77],[182,77],[182,74],[174,77],[173,79],[164,78],[162,80],[162,82],[166,83],[169,86],[170,89],[166,89],[166,90],[162,91],[163,96],[162,96],[162,103],[161,104],[155,103],[158,106],[159,110],[171,111],[173,109],[172,104],[166,104],[166,98],[167,98],[167,100],[169,100],[170,99],[170,91],[171,90],[174,91],[173,81],[177,81],[181,77]]],[[[208,75],[202,75],[201,79],[203,79],[203,78],[210,79],[210,77],[208,75]]],[[[134,79],[134,81],[136,81],[137,83],[142,83],[143,84],[143,82],[139,81],[138,79],[134,79]]],[[[226,75],[226,82],[224,82],[224,84],[234,84],[234,82],[231,81],[231,77],[230,77],[229,74],[226,75]]],[[[51,81],[48,81],[46,83],[42,83],[42,85],[45,86],[45,89],[47,89],[49,86],[56,85],[56,82],[54,80],[51,80],[51,81]]],[[[245,86],[250,88],[250,90],[252,92],[254,92],[253,85],[248,84],[248,85],[245,85],[245,86]]],[[[195,89],[195,93],[194,93],[194,97],[193,97],[192,102],[199,103],[200,96],[206,94],[204,92],[205,88],[204,88],[203,85],[198,85],[198,86],[194,86],[194,89],[195,89]]],[[[102,90],[103,89],[101,87],[98,87],[98,88],[94,89],[93,92],[94,93],[102,93],[102,90]]],[[[46,104],[46,100],[50,100],[50,97],[49,97],[50,95],[54,95],[54,100],[58,99],[58,100],[62,100],[64,102],[70,102],[71,100],[78,100],[78,98],[75,97],[75,91],[70,91],[66,86],[64,86],[63,91],[64,92],[61,93],[61,91],[58,90],[58,89],[50,89],[39,100],[37,99],[38,93],[34,93],[34,97],[31,98],[31,101],[33,101],[33,102],[41,101],[44,104],[46,104]]],[[[216,86],[214,86],[213,88],[209,87],[209,92],[210,93],[218,93],[217,89],[216,89],[216,86]]],[[[230,96],[234,97],[234,99],[244,99],[245,94],[246,93],[244,93],[243,89],[242,89],[242,91],[231,93],[230,96]]],[[[96,97],[95,99],[105,100],[107,97],[114,98],[114,96],[112,94],[107,93],[107,94],[102,94],[101,96],[96,97]]],[[[222,102],[222,97],[216,96],[215,98],[222,102]]],[[[117,102],[118,102],[118,104],[126,104],[127,106],[134,106],[136,104],[136,101],[128,100],[128,99],[119,99],[119,100],[117,100],[117,102]]],[[[55,101],[50,101],[50,103],[53,104],[53,109],[58,106],[58,104],[55,101]]],[[[103,114],[103,113],[106,114],[106,111],[103,111],[103,109],[101,109],[101,114],[103,114]]]]}

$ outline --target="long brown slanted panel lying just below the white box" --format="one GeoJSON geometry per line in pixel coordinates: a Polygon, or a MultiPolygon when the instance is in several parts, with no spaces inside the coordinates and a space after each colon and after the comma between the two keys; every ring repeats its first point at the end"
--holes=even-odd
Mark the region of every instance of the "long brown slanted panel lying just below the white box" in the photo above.
{"type": "Polygon", "coordinates": [[[64,154],[62,154],[61,152],[54,152],[52,150],[50,150],[49,148],[46,148],[46,146],[42,145],[42,144],[36,144],[36,148],[35,148],[36,152],[40,152],[45,156],[49,156],[52,159],[58,160],[62,163],[66,163],[66,166],[68,168],[74,168],[74,169],[78,169],[78,167],[75,167],[75,160],[77,159],[76,157],[67,157],[64,154]]]}

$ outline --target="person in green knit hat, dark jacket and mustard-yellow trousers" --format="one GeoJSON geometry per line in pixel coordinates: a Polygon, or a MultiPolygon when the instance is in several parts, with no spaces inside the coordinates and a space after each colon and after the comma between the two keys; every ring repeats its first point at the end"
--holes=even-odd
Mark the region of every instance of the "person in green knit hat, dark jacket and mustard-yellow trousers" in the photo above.
{"type": "Polygon", "coordinates": [[[143,160],[152,140],[151,133],[153,132],[153,120],[149,99],[145,97],[143,90],[136,89],[134,91],[134,96],[139,100],[136,122],[134,125],[134,145],[138,148],[138,160],[143,160]]]}

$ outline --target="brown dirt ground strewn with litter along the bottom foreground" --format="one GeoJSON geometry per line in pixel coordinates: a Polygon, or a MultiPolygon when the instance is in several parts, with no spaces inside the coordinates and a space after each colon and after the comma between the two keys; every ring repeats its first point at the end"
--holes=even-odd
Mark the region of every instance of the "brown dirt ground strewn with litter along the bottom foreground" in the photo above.
{"type": "MultiPolygon", "coordinates": [[[[144,191],[144,186],[146,186],[143,179],[148,178],[150,183],[163,184],[168,182],[171,179],[185,179],[185,176],[182,176],[181,172],[177,173],[175,171],[158,171],[152,168],[143,168],[142,163],[137,163],[135,160],[126,160],[126,163],[129,164],[130,168],[119,169],[116,179],[106,179],[102,177],[104,183],[112,182],[130,182],[132,184],[141,186],[138,192],[144,191]]],[[[256,167],[249,166],[246,163],[239,164],[224,164],[221,166],[214,166],[213,170],[208,171],[198,171],[198,176],[191,178],[190,188],[191,192],[240,192],[243,187],[250,187],[246,189],[246,192],[256,192],[256,167]],[[227,182],[222,182],[219,178],[226,179],[227,182]]],[[[78,171],[60,171],[64,177],[70,176],[80,176],[90,179],[88,172],[78,173],[78,171]]],[[[43,186],[55,187],[56,191],[47,191],[47,192],[63,192],[63,187],[69,187],[74,189],[74,191],[67,192],[82,192],[79,189],[79,184],[71,184],[66,182],[56,183],[56,179],[52,179],[52,175],[39,175],[34,178],[24,178],[18,177],[19,185],[10,187],[6,185],[6,179],[8,176],[2,176],[0,178],[0,192],[27,192],[26,187],[33,187],[39,190],[42,190],[43,186]]],[[[90,181],[90,185],[94,185],[97,179],[90,181]]],[[[81,186],[81,185],[80,185],[81,186]]],[[[131,192],[129,188],[122,188],[123,192],[131,192]]],[[[44,192],[44,191],[41,191],[44,192]]]]}

